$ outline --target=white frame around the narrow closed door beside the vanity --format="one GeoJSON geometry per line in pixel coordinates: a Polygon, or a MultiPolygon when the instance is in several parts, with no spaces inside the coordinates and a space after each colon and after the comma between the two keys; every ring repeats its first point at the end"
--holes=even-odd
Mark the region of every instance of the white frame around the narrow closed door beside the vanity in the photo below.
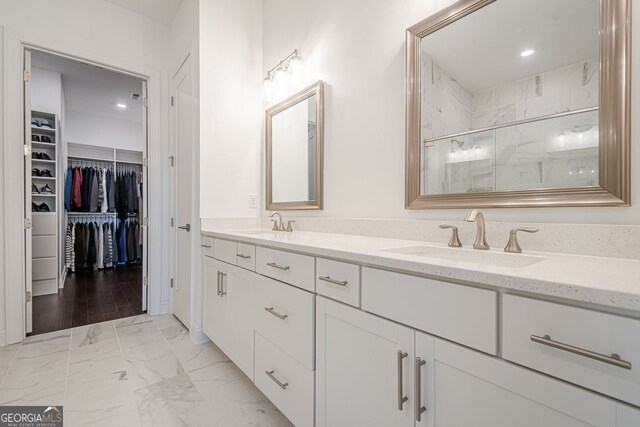
{"type": "MultiPolygon", "coordinates": [[[[199,152],[199,103],[197,96],[197,72],[196,69],[198,67],[197,56],[192,54],[191,43],[188,43],[183,52],[178,56],[177,61],[171,68],[171,73],[169,75],[169,95],[170,99],[176,99],[176,88],[174,86],[174,79],[176,78],[178,72],[182,69],[182,66],[187,62],[187,60],[191,61],[191,90],[194,94],[194,105],[193,105],[193,121],[191,123],[192,126],[192,159],[191,159],[191,188],[192,188],[192,197],[191,197],[191,301],[190,301],[190,324],[185,325],[189,329],[189,335],[194,342],[202,343],[208,341],[208,338],[202,332],[202,301],[201,298],[196,298],[196,295],[201,295],[200,293],[200,276],[201,276],[201,260],[200,260],[200,204],[199,204],[199,192],[200,192],[200,181],[199,181],[199,171],[200,171],[200,163],[199,156],[197,153],[199,152]]],[[[171,216],[170,223],[170,272],[169,277],[170,280],[175,282],[176,273],[177,273],[177,232],[178,232],[178,224],[175,223],[177,218],[177,172],[178,169],[175,167],[177,164],[177,129],[176,129],[176,115],[175,109],[170,107],[169,110],[169,158],[168,165],[170,170],[170,184],[169,184],[169,211],[171,216]],[[173,162],[173,163],[172,163],[173,162]]],[[[169,289],[169,313],[173,313],[173,289],[169,289]]]]}

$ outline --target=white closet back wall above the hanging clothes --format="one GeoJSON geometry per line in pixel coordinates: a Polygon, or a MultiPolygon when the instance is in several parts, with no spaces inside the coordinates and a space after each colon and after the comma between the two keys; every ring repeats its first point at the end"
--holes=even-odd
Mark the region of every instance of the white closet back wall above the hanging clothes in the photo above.
{"type": "Polygon", "coordinates": [[[66,140],[78,144],[142,151],[142,123],[66,110],[66,140]]]}

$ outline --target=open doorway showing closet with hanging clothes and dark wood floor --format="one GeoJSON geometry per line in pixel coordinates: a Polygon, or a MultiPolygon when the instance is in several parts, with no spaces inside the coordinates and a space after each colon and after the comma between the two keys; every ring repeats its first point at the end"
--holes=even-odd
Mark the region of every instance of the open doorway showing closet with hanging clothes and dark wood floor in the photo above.
{"type": "Polygon", "coordinates": [[[146,81],[38,50],[24,59],[27,334],[142,314],[146,81]]]}

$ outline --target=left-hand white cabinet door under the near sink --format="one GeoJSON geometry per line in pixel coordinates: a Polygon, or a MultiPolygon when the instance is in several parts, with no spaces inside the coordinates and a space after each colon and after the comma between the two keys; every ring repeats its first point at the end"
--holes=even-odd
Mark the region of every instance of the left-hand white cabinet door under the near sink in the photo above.
{"type": "Polygon", "coordinates": [[[412,329],[317,297],[316,334],[316,426],[413,426],[412,329]]]}

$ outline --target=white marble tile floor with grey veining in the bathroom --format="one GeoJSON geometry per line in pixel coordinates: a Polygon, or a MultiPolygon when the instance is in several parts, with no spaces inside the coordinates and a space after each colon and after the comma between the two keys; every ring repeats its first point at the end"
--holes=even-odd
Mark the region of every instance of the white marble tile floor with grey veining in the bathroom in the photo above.
{"type": "Polygon", "coordinates": [[[65,426],[291,426],[213,343],[139,315],[0,348],[0,405],[63,405],[65,426]]]}

